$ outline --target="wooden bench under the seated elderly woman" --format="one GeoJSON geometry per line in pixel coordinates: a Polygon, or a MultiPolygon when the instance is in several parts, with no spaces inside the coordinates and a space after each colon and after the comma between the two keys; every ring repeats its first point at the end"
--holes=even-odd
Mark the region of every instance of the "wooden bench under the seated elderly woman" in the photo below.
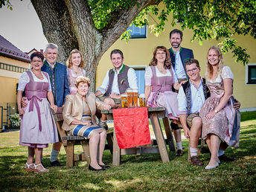
{"type": "MultiPolygon", "coordinates": [[[[58,107],[57,112],[53,112],[54,120],[57,125],[58,132],[60,134],[60,139],[63,142],[65,148],[65,153],[67,156],[66,166],[73,167],[78,161],[87,161],[90,164],[90,152],[89,152],[89,139],[80,136],[68,135],[68,132],[63,130],[61,127],[63,125],[63,107],[58,107]],[[74,154],[74,145],[80,144],[83,148],[83,153],[74,154]]],[[[113,151],[113,128],[106,130],[106,147],[105,150],[113,151]]]]}

